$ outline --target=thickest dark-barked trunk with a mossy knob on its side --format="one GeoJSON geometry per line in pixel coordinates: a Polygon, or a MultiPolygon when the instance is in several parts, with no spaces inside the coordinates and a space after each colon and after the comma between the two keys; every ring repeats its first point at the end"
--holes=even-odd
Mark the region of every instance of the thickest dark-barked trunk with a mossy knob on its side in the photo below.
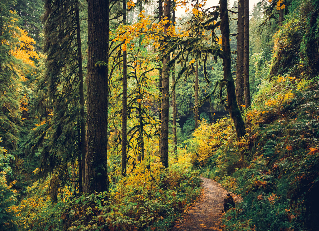
{"type": "Polygon", "coordinates": [[[108,191],[109,0],[88,0],[87,119],[84,192],[108,191]]]}

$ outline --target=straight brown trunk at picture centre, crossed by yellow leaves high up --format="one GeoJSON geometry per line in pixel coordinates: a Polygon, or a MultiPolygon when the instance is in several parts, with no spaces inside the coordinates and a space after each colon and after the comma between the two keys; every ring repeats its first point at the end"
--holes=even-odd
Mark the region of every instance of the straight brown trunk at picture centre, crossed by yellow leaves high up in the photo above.
{"type": "MultiPolygon", "coordinates": [[[[171,19],[170,0],[164,0],[164,17],[168,22],[164,26],[164,34],[167,33],[169,21],[171,19]]],[[[159,160],[165,168],[168,168],[168,107],[169,107],[169,67],[167,63],[169,55],[163,57],[163,78],[162,78],[162,107],[161,107],[161,125],[160,125],[160,148],[159,160]]]]}

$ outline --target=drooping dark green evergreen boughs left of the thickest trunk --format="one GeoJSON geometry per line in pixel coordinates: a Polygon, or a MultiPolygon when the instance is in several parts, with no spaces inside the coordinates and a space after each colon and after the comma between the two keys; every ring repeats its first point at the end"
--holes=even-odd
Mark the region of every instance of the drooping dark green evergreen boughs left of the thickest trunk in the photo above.
{"type": "MultiPolygon", "coordinates": [[[[78,1],[47,1],[45,4],[45,73],[36,83],[30,114],[39,124],[28,134],[23,147],[28,155],[39,155],[39,177],[55,173],[58,181],[68,179],[68,163],[78,155],[80,121],[79,62],[76,4],[78,1]]],[[[63,181],[62,181],[63,182],[63,181]]],[[[54,181],[52,181],[54,183],[54,181]]],[[[56,197],[54,198],[56,200],[56,197]]]]}

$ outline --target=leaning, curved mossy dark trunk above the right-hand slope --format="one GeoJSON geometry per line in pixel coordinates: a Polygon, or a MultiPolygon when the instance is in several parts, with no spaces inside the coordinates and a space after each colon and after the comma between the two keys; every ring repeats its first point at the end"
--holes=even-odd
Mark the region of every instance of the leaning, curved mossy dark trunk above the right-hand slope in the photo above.
{"type": "Polygon", "coordinates": [[[233,75],[231,72],[231,50],[229,44],[229,19],[228,19],[228,9],[227,0],[219,0],[219,11],[220,11],[220,30],[222,38],[222,50],[224,52],[223,57],[223,71],[224,79],[227,81],[227,109],[230,117],[234,121],[237,139],[240,140],[242,136],[245,135],[245,124],[241,116],[241,111],[239,110],[236,96],[235,96],[235,84],[233,75]]]}

